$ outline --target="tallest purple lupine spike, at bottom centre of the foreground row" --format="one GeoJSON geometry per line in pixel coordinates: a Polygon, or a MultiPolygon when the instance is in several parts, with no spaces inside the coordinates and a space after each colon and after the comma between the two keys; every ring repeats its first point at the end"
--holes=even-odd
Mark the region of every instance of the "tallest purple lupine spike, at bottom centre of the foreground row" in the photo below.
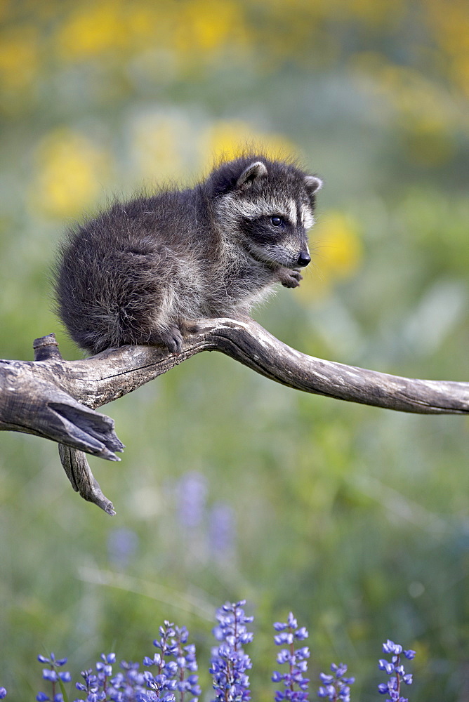
{"type": "Polygon", "coordinates": [[[213,702],[247,702],[251,699],[246,675],[246,670],[251,668],[251,659],[244,653],[243,646],[253,640],[253,634],[246,629],[253,617],[244,614],[242,606],[245,602],[227,602],[216,613],[218,626],[213,629],[213,635],[220,641],[220,646],[212,649],[209,670],[216,691],[213,702]]]}

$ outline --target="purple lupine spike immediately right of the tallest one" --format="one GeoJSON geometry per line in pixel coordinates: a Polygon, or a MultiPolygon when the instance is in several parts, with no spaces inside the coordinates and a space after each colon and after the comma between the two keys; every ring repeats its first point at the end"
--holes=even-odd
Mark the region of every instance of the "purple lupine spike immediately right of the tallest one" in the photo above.
{"type": "Polygon", "coordinates": [[[275,702],[290,700],[291,702],[308,701],[308,677],[303,677],[303,673],[308,671],[308,658],[310,649],[307,646],[295,649],[295,642],[304,641],[308,638],[308,630],[304,626],[298,628],[298,622],[290,612],[286,623],[275,622],[275,631],[279,634],[274,636],[277,646],[286,645],[288,648],[281,649],[277,654],[277,663],[282,665],[288,663],[287,673],[279,673],[277,670],[272,674],[272,682],[283,682],[284,689],[277,690],[275,702]]]}

